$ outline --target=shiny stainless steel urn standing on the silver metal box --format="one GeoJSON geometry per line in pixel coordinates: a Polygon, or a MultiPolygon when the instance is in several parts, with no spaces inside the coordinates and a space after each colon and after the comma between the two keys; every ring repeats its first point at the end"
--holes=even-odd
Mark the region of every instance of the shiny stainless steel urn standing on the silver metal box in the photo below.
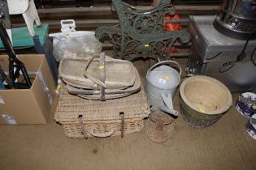
{"type": "Polygon", "coordinates": [[[256,30],[256,0],[223,1],[215,28],[224,35],[247,40],[256,30]]]}

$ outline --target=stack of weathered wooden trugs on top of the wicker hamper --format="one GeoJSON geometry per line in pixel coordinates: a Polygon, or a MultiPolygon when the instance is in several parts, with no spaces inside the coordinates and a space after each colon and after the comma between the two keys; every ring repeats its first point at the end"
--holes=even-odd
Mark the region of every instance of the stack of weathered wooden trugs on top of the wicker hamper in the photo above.
{"type": "Polygon", "coordinates": [[[67,91],[89,100],[108,100],[141,90],[141,79],[132,62],[105,57],[63,58],[59,75],[67,91]]]}

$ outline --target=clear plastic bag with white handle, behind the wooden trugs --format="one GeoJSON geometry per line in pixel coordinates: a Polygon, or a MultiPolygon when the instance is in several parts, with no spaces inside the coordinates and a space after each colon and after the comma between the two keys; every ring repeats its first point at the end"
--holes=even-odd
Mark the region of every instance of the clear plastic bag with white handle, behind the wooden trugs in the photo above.
{"type": "Polygon", "coordinates": [[[60,61],[63,57],[86,57],[102,51],[102,43],[94,36],[94,32],[76,32],[74,19],[60,21],[61,32],[53,36],[54,57],[60,61]]]}

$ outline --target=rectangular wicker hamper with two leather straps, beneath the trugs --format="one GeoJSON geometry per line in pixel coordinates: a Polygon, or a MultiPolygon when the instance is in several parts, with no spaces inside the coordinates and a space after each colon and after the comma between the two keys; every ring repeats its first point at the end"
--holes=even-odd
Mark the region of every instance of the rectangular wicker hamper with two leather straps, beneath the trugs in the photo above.
{"type": "Polygon", "coordinates": [[[63,85],[54,119],[69,138],[123,137],[142,130],[149,115],[143,89],[124,98],[100,101],[72,96],[63,85]]]}

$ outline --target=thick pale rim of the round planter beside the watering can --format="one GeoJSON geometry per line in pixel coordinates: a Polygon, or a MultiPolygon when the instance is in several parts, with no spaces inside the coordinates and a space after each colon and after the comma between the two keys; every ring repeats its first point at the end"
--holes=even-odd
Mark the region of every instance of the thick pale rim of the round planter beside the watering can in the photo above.
{"type": "Polygon", "coordinates": [[[189,77],[188,79],[185,79],[181,85],[180,85],[180,97],[182,100],[184,100],[184,103],[189,105],[190,108],[193,108],[193,110],[197,111],[198,113],[203,113],[203,114],[207,114],[207,115],[215,115],[215,114],[221,114],[221,113],[225,113],[226,111],[228,111],[228,109],[232,106],[232,95],[231,92],[228,90],[228,87],[226,87],[223,83],[221,83],[219,80],[205,76],[205,75],[195,75],[193,77],[189,77]],[[195,107],[188,99],[187,97],[184,95],[184,87],[185,85],[187,85],[188,83],[192,83],[194,81],[204,81],[204,82],[210,82],[210,83],[215,83],[217,85],[219,85],[223,91],[226,92],[227,96],[228,96],[228,101],[227,104],[223,107],[223,108],[219,108],[215,111],[210,111],[209,113],[205,113],[204,111],[202,111],[202,109],[195,107]]]}

